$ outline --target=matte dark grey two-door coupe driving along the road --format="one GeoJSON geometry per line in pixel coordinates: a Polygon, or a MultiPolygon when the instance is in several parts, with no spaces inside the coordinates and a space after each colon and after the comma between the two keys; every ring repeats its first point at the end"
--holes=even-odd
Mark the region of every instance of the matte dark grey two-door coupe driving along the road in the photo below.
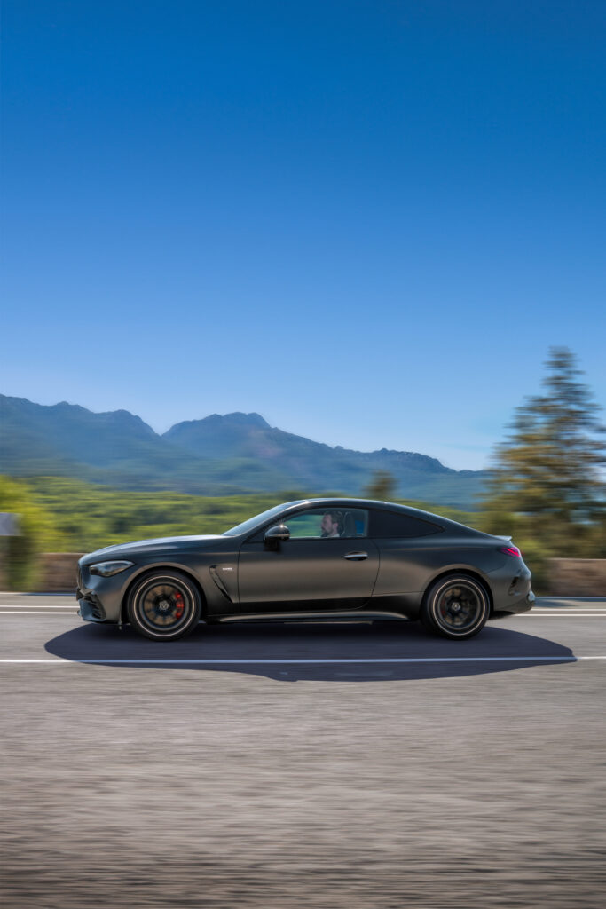
{"type": "Polygon", "coordinates": [[[107,546],[78,564],[79,614],[174,641],[238,619],[420,619],[462,640],[531,609],[531,573],[508,537],[363,499],[276,505],[219,535],[107,546]]]}

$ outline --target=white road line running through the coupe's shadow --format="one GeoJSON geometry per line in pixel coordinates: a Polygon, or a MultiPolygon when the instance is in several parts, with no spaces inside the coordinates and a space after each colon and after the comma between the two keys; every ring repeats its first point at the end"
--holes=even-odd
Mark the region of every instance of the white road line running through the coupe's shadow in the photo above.
{"type": "Polygon", "coordinates": [[[166,658],[165,660],[156,659],[156,660],[138,660],[136,657],[131,659],[116,660],[116,659],[104,659],[102,656],[97,657],[94,660],[91,659],[62,659],[60,657],[54,658],[45,658],[45,659],[1,659],[0,663],[9,663],[9,664],[30,664],[30,663],[55,663],[59,665],[78,665],[78,664],[98,664],[98,665],[120,665],[120,664],[136,664],[136,665],[204,665],[204,666],[218,666],[218,665],[240,665],[240,666],[250,666],[250,665],[286,665],[286,664],[313,664],[313,665],[333,665],[333,664],[366,664],[366,663],[399,663],[399,664],[425,664],[425,663],[578,663],[581,660],[606,660],[606,655],[603,656],[419,656],[419,657],[399,657],[399,656],[386,656],[386,657],[360,657],[356,659],[355,657],[347,657],[344,659],[331,659],[327,657],[325,660],[314,658],[314,659],[283,659],[283,660],[264,660],[263,658],[251,657],[249,660],[187,660],[187,659],[170,659],[166,658]]]}

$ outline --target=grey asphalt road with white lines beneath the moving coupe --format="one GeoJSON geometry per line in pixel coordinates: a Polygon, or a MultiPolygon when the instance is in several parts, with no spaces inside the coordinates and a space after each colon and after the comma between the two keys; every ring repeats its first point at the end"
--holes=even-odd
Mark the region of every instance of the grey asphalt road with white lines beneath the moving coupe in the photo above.
{"type": "Polygon", "coordinates": [[[538,602],[154,644],[0,594],[3,904],[603,906],[606,600],[538,602]]]}

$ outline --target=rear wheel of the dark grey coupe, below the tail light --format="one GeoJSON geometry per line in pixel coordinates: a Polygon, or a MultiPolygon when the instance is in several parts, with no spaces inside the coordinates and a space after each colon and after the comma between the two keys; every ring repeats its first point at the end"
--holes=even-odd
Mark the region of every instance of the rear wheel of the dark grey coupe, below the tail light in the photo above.
{"type": "Polygon", "coordinates": [[[464,641],[482,631],[490,611],[488,593],[481,581],[469,574],[447,574],[425,594],[421,621],[433,634],[464,641]]]}

